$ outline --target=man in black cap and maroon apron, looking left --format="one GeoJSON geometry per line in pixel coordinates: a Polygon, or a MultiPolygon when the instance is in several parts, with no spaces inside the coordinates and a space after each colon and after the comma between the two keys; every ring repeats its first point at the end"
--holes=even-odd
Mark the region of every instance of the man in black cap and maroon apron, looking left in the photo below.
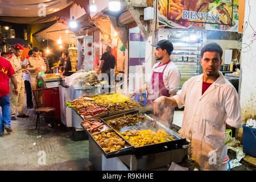
{"type": "MultiPolygon", "coordinates": [[[[160,96],[175,96],[180,83],[180,71],[171,60],[171,52],[174,46],[170,40],[160,40],[157,44],[151,45],[155,48],[155,59],[160,60],[152,68],[150,84],[146,83],[138,90],[132,92],[141,93],[148,90],[148,105],[153,105],[154,100],[160,96]]],[[[172,128],[174,108],[166,107],[156,117],[167,127],[172,128]]]]}

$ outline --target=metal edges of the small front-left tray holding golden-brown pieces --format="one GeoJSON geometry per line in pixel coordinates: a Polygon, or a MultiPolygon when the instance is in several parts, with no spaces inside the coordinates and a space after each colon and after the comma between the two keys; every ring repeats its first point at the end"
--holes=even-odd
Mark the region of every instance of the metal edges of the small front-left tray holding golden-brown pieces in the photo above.
{"type": "MultiPolygon", "coordinates": [[[[105,130],[106,131],[106,130],[105,130]]],[[[96,139],[93,138],[94,135],[97,135],[101,132],[98,133],[94,133],[94,134],[89,134],[89,137],[92,138],[92,140],[94,140],[94,142],[96,143],[97,147],[101,150],[102,154],[105,155],[106,158],[115,158],[118,156],[123,156],[123,155],[129,155],[131,154],[131,152],[133,151],[133,146],[126,140],[124,139],[121,135],[119,135],[117,133],[117,131],[115,131],[114,129],[109,129],[108,131],[113,131],[115,134],[117,134],[120,138],[122,138],[123,140],[125,140],[125,148],[122,148],[121,150],[117,150],[117,151],[113,151],[113,152],[108,152],[106,153],[103,148],[100,146],[100,144],[98,144],[98,142],[96,141],[96,139]]]]}

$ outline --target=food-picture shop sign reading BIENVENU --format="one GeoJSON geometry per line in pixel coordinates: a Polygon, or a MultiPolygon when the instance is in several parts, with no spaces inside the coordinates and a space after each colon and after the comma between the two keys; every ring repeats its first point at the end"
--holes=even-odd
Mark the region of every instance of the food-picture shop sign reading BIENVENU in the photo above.
{"type": "Polygon", "coordinates": [[[158,26],[238,31],[238,0],[158,0],[158,26]]]}

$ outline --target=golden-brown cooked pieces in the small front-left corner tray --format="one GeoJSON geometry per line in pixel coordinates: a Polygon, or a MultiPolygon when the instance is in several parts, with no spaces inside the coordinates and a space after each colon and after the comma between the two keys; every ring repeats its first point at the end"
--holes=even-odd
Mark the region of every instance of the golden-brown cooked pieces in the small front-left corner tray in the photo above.
{"type": "Polygon", "coordinates": [[[98,144],[100,144],[106,153],[125,148],[125,140],[123,140],[113,131],[102,131],[99,134],[94,134],[93,138],[98,144]]]}

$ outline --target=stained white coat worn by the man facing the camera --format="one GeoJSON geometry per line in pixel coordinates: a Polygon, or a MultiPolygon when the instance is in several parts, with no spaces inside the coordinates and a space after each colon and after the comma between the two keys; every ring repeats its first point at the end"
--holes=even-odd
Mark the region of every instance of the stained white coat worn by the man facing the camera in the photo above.
{"type": "Polygon", "coordinates": [[[192,158],[201,170],[222,169],[226,124],[236,128],[242,126],[237,91],[221,72],[219,74],[203,95],[202,74],[186,81],[177,95],[172,97],[179,107],[185,105],[179,133],[191,140],[192,158]]]}

